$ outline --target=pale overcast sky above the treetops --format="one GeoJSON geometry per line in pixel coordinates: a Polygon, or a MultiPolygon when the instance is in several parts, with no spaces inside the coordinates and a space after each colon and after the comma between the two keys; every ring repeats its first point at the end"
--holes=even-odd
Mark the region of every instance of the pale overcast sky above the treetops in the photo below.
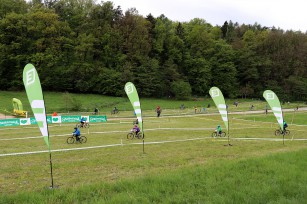
{"type": "Polygon", "coordinates": [[[125,12],[136,8],[140,15],[164,14],[172,21],[188,22],[201,18],[211,25],[225,21],[307,31],[306,0],[109,0],[125,12]]]}

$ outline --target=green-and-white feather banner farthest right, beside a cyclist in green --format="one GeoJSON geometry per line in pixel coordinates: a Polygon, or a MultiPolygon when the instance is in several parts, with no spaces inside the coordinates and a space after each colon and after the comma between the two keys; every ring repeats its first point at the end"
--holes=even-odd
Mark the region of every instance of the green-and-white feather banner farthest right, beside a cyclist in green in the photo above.
{"type": "Polygon", "coordinates": [[[263,97],[265,98],[265,100],[268,102],[269,106],[271,107],[277,122],[280,126],[280,128],[283,130],[284,129],[284,119],[283,119],[283,115],[282,115],[282,109],[281,109],[281,105],[279,102],[279,99],[277,97],[277,95],[271,91],[271,90],[266,90],[263,92],[263,97]]]}

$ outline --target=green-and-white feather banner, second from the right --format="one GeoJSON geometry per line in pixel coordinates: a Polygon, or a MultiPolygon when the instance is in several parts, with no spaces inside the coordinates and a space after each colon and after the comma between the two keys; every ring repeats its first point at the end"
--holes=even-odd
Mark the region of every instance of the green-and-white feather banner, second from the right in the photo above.
{"type": "Polygon", "coordinates": [[[229,131],[228,129],[228,113],[227,113],[227,106],[225,104],[225,99],[223,96],[223,93],[221,92],[221,90],[217,87],[212,87],[209,90],[209,94],[211,96],[211,98],[213,99],[217,109],[219,110],[222,119],[225,123],[225,127],[227,129],[227,131],[229,131]]]}

